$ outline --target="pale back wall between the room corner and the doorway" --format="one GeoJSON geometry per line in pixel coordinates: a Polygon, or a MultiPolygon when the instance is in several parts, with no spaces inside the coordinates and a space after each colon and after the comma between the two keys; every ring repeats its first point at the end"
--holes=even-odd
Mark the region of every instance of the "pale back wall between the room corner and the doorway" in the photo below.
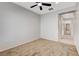
{"type": "Polygon", "coordinates": [[[56,13],[49,13],[41,16],[40,37],[57,40],[58,39],[58,17],[56,13]]]}

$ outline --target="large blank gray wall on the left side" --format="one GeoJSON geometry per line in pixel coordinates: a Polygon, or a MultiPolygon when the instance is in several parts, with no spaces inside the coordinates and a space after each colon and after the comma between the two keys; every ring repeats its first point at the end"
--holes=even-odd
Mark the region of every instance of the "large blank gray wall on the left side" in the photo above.
{"type": "Polygon", "coordinates": [[[39,19],[23,7],[0,2],[0,51],[38,39],[39,19]]]}

